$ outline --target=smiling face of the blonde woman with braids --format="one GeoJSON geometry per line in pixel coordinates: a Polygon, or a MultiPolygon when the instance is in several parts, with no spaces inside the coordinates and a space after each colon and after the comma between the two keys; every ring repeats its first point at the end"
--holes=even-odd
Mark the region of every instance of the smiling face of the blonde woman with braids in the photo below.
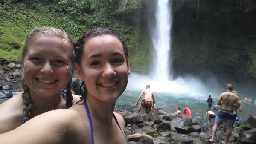
{"type": "MultiPolygon", "coordinates": [[[[35,37],[29,44],[24,61],[24,81],[31,95],[59,94],[70,80],[70,48],[63,48],[59,37],[35,37]]],[[[71,66],[70,66],[71,69],[71,66]]]]}

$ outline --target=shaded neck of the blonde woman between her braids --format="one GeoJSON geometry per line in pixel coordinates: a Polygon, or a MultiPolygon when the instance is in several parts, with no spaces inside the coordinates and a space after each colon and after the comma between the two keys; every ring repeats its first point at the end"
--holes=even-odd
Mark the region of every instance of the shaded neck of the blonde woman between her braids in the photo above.
{"type": "Polygon", "coordinates": [[[35,95],[30,91],[30,96],[33,104],[33,117],[54,109],[66,109],[66,101],[62,97],[61,92],[46,97],[35,95]]]}

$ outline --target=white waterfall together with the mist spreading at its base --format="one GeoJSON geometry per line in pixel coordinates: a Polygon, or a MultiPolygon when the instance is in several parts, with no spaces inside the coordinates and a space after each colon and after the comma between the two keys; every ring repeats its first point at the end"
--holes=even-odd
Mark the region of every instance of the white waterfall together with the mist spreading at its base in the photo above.
{"type": "MultiPolygon", "coordinates": [[[[154,58],[154,69],[150,69],[151,76],[140,75],[132,72],[129,76],[127,89],[142,90],[147,84],[151,89],[160,93],[176,93],[186,95],[205,95],[204,84],[197,78],[177,78],[171,81],[172,70],[169,59],[171,55],[172,38],[172,0],[157,0],[156,26],[151,34],[151,40],[156,55],[154,58]]],[[[208,93],[208,92],[207,92],[208,93]]]]}

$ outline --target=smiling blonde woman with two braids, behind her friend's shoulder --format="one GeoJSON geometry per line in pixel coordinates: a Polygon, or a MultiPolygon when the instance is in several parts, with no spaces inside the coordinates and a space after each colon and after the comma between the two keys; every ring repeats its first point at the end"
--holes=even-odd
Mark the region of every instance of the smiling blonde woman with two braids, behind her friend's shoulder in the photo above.
{"type": "Polygon", "coordinates": [[[21,54],[23,92],[0,104],[0,133],[44,112],[67,109],[79,101],[79,96],[71,92],[73,52],[73,41],[60,29],[36,28],[26,37],[21,54]]]}

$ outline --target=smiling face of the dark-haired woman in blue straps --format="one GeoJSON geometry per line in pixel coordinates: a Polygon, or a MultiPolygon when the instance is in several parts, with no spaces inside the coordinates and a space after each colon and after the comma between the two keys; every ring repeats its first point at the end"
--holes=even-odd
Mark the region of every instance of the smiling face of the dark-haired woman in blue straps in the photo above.
{"type": "Polygon", "coordinates": [[[78,79],[84,81],[87,97],[114,102],[124,92],[130,73],[122,43],[113,35],[100,35],[84,43],[78,79]]]}

